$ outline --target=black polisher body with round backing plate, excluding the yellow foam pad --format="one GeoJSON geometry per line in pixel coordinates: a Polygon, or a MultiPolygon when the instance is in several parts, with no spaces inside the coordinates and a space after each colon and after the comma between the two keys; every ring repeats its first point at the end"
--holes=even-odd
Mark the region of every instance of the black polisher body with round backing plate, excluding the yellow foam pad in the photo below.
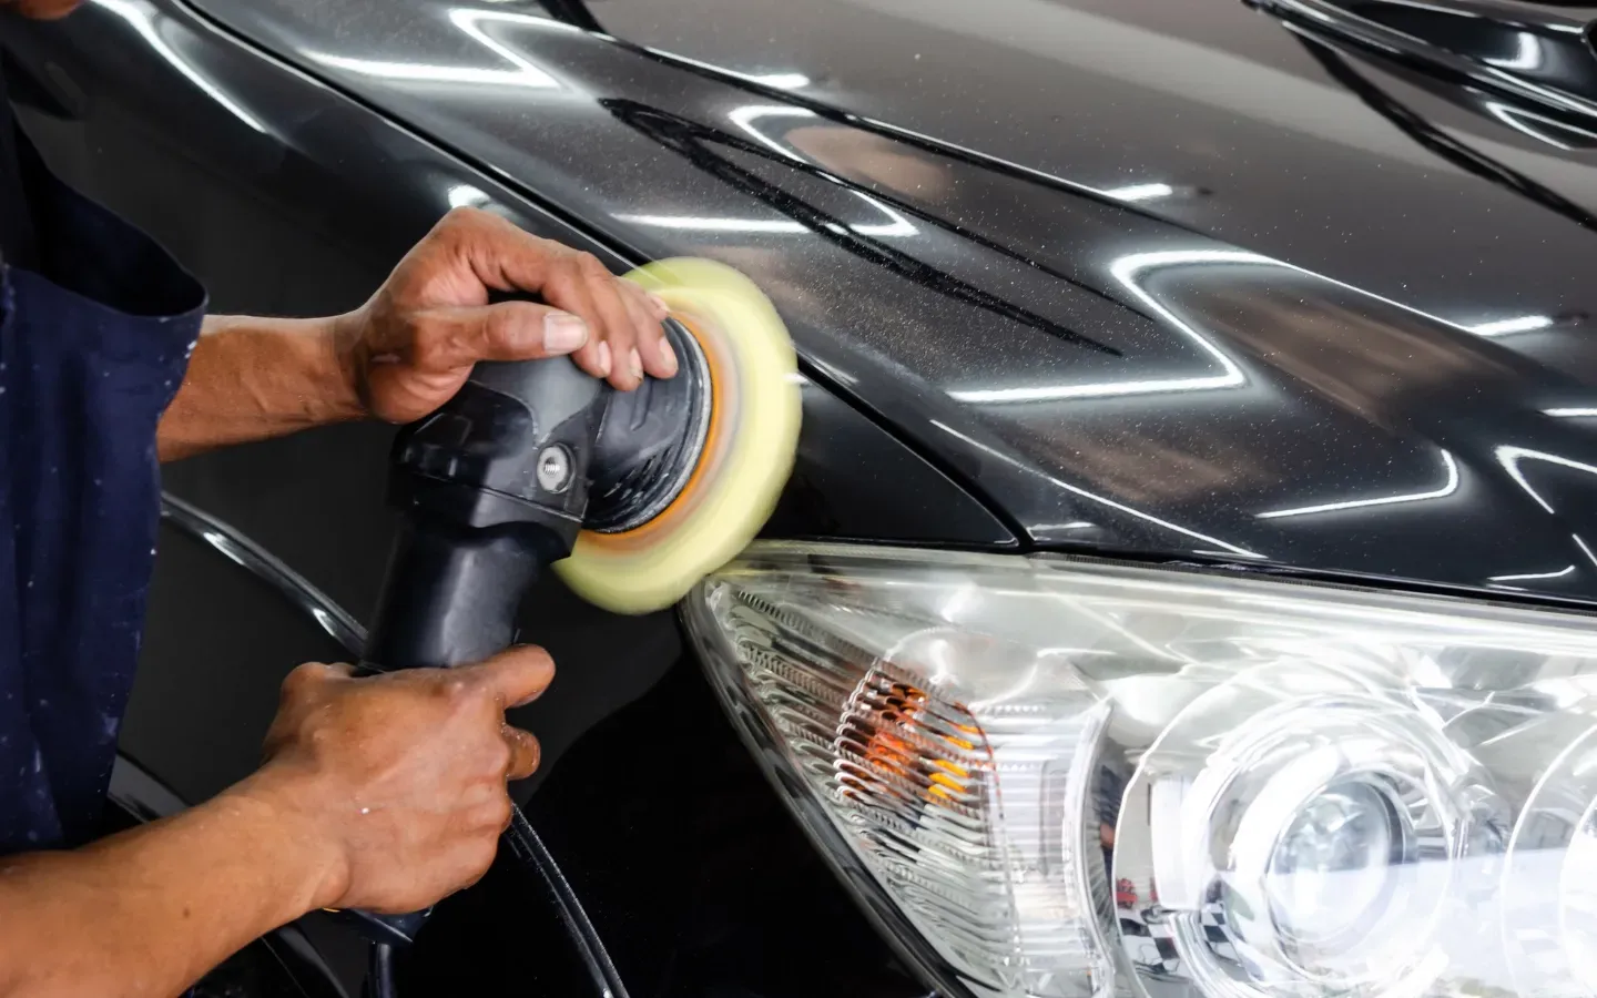
{"type": "MultiPolygon", "coordinates": [[[[599,529],[623,527],[680,490],[704,439],[707,375],[680,323],[668,319],[664,334],[684,362],[671,382],[618,398],[569,358],[482,362],[455,398],[401,431],[390,501],[406,519],[363,669],[503,651],[522,596],[572,552],[591,513],[599,529]]],[[[388,945],[409,944],[426,921],[426,912],[343,915],[388,945]]]]}

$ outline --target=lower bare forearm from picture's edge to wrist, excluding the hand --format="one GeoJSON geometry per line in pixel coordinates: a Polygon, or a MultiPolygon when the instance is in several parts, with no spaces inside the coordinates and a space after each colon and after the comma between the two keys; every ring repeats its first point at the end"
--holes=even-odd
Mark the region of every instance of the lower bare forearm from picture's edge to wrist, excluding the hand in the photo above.
{"type": "Polygon", "coordinates": [[[331,904],[340,877],[270,773],[83,849],[0,859],[0,996],[168,998],[331,904]]]}

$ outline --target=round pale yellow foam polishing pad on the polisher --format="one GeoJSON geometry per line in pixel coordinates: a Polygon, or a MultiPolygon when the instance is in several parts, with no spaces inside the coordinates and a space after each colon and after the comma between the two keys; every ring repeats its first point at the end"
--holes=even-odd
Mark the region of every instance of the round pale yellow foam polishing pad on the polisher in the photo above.
{"type": "Polygon", "coordinates": [[[798,359],[776,308],[723,263],[669,259],[628,276],[660,295],[703,350],[709,431],[660,516],[620,533],[583,530],[554,570],[597,607],[648,613],[687,596],[770,519],[798,447],[798,359]]]}

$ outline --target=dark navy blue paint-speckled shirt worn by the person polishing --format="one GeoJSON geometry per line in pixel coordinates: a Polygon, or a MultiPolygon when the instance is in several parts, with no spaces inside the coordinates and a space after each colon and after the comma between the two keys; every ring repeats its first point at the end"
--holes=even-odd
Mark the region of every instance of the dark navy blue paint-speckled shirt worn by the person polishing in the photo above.
{"type": "Polygon", "coordinates": [[[206,303],[26,139],[18,158],[35,246],[0,263],[0,853],[97,829],[155,559],[155,426],[206,303]]]}

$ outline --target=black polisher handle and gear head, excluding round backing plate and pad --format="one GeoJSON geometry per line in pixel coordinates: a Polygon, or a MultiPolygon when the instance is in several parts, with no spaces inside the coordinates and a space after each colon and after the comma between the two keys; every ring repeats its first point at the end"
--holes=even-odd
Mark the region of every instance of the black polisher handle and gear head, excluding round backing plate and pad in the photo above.
{"type": "MultiPolygon", "coordinates": [[[[363,671],[462,666],[516,640],[522,596],[581,529],[608,394],[567,358],[479,364],[401,431],[390,500],[406,516],[363,671]]],[[[339,915],[374,942],[406,945],[430,910],[339,915]]]]}

